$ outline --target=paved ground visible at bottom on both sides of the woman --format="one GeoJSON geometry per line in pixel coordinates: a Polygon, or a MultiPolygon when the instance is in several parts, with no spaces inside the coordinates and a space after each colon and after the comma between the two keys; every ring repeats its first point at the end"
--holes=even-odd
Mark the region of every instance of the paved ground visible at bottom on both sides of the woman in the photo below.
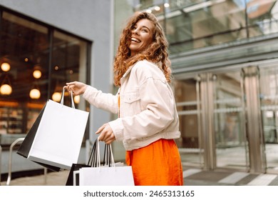
{"type": "MultiPolygon", "coordinates": [[[[68,170],[13,179],[9,186],[65,186],[68,170]]],[[[185,186],[278,186],[278,174],[250,174],[242,171],[183,171],[185,186]]],[[[1,181],[6,186],[6,180],[1,181]]]]}

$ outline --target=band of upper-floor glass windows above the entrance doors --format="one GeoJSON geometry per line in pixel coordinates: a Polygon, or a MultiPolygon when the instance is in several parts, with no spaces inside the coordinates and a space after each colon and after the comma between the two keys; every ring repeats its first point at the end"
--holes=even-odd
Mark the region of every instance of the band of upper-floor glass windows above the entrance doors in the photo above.
{"type": "MultiPolygon", "coordinates": [[[[278,32],[276,0],[133,0],[125,4],[134,12],[158,16],[171,54],[278,32]]],[[[115,13],[122,7],[117,6],[115,13]]]]}

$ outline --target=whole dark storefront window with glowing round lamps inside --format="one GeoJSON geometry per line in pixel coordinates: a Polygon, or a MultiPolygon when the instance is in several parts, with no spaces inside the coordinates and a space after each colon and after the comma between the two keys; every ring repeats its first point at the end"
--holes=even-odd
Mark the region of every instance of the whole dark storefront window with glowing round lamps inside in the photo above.
{"type": "MultiPolygon", "coordinates": [[[[3,11],[0,24],[0,144],[24,137],[48,99],[68,81],[87,80],[91,43],[3,11]]],[[[66,93],[68,96],[68,93],[66,93]]],[[[70,105],[70,98],[64,104],[70,105]]],[[[79,96],[76,108],[88,110],[79,96]]]]}

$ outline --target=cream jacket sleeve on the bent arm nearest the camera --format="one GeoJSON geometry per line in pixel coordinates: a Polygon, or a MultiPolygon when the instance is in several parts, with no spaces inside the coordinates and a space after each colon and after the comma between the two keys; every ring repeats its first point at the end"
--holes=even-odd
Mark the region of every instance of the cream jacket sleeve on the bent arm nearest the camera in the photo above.
{"type": "Polygon", "coordinates": [[[140,104],[143,109],[134,116],[109,122],[116,140],[143,139],[167,128],[174,120],[175,101],[170,86],[164,79],[148,76],[150,71],[143,68],[136,71],[138,79],[143,80],[140,82],[140,104]]]}

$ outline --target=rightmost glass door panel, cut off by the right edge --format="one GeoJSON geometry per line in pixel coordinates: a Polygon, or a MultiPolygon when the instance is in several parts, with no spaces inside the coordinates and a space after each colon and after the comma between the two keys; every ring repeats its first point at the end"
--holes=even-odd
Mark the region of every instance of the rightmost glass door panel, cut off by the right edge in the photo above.
{"type": "Polygon", "coordinates": [[[278,174],[278,65],[259,70],[267,172],[278,174]]]}

